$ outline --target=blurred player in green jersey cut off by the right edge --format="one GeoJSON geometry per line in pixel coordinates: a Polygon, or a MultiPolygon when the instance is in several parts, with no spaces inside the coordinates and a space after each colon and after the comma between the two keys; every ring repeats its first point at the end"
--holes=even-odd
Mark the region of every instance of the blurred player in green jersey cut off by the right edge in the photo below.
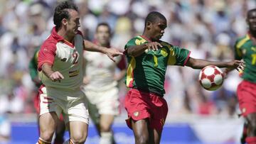
{"type": "Polygon", "coordinates": [[[235,43],[235,60],[245,61],[245,70],[241,70],[243,81],[238,85],[238,102],[242,116],[247,121],[246,133],[242,143],[256,143],[256,9],[247,11],[247,35],[238,38],[235,43]],[[246,136],[246,139],[245,139],[246,136]],[[245,139],[245,140],[244,140],[245,139]]]}

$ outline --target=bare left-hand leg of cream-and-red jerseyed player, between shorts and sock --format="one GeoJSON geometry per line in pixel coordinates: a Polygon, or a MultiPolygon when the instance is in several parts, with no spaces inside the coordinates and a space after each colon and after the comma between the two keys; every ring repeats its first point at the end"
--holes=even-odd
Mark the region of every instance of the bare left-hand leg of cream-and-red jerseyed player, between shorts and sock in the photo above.
{"type": "Polygon", "coordinates": [[[39,117],[40,133],[45,135],[53,133],[57,126],[58,116],[55,112],[44,113],[39,117]]]}

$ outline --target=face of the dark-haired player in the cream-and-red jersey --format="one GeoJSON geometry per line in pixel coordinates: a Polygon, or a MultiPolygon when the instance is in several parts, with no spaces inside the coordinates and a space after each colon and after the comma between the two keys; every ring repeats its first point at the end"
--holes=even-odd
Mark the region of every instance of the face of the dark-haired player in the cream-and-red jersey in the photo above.
{"type": "Polygon", "coordinates": [[[67,21],[67,32],[68,35],[75,35],[78,33],[78,28],[80,27],[80,18],[78,11],[73,9],[69,10],[70,19],[67,21]]]}

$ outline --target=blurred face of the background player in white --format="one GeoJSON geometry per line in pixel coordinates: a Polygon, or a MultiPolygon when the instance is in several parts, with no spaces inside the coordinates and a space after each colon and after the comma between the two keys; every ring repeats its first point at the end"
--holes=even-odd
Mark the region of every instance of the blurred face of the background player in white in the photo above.
{"type": "Polygon", "coordinates": [[[99,26],[95,34],[100,45],[107,45],[110,43],[110,29],[107,26],[99,26]]]}

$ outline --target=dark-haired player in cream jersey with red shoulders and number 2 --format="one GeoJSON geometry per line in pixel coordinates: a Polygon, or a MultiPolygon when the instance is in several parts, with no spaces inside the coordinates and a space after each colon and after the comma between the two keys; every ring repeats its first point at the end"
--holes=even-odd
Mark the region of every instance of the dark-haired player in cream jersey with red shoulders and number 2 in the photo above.
{"type": "Polygon", "coordinates": [[[65,144],[85,143],[89,116],[82,85],[83,50],[105,53],[114,60],[121,52],[83,40],[78,8],[70,1],[56,6],[55,27],[38,54],[40,92],[40,138],[38,144],[50,143],[56,122],[63,113],[70,139],[65,144]]]}

